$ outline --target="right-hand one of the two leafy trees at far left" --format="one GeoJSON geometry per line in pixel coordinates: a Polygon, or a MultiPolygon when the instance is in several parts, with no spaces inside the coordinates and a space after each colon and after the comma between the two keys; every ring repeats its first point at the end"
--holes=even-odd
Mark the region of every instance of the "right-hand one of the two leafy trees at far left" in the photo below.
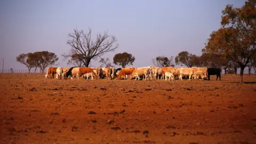
{"type": "Polygon", "coordinates": [[[35,65],[41,69],[42,73],[44,73],[46,67],[54,65],[59,60],[55,53],[48,51],[34,52],[33,59],[35,65]]]}

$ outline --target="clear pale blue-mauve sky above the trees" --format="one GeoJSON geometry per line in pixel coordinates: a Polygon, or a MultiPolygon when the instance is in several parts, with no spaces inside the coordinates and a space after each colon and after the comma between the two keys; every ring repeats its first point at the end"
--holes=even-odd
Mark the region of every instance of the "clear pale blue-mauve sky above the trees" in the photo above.
{"type": "MultiPolygon", "coordinates": [[[[73,28],[92,29],[93,36],[108,29],[119,44],[103,57],[113,62],[116,53],[134,55],[134,67],[151,66],[158,55],[181,51],[201,55],[213,30],[220,28],[227,4],[241,7],[245,0],[131,0],[131,1],[0,1],[0,62],[4,69],[25,69],[15,60],[21,53],[51,51],[59,66],[61,54],[70,51],[68,34],[73,28]]],[[[100,66],[92,60],[92,66],[100,66]]],[[[71,66],[69,66],[71,67],[71,66]]],[[[118,68],[119,66],[116,66],[118,68]]]]}

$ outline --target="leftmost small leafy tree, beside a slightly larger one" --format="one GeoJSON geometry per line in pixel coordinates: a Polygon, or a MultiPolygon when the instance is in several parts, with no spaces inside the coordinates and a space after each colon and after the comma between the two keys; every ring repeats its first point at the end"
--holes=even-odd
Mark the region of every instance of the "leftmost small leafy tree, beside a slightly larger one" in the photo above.
{"type": "Polygon", "coordinates": [[[35,67],[32,53],[22,53],[16,57],[16,60],[28,68],[28,73],[30,73],[31,68],[35,67]]]}

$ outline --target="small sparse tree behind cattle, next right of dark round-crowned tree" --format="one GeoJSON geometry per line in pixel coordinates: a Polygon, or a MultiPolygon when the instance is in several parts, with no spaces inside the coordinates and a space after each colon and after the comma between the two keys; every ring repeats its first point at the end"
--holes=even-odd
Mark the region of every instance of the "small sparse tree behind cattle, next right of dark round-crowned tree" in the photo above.
{"type": "Polygon", "coordinates": [[[174,67],[173,57],[167,58],[164,56],[158,56],[155,59],[152,59],[152,63],[156,67],[174,67]]]}

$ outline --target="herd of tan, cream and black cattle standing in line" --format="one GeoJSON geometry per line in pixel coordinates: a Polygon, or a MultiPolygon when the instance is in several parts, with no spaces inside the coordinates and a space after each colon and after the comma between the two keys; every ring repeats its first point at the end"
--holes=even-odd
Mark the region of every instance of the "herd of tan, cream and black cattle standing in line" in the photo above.
{"type": "MultiPolygon", "coordinates": [[[[200,68],[200,67],[191,67],[191,68],[174,68],[174,67],[127,67],[127,68],[117,68],[114,67],[49,67],[47,69],[45,78],[55,78],[57,79],[74,79],[79,77],[81,78],[93,78],[95,79],[127,79],[127,76],[130,75],[130,79],[135,78],[152,80],[152,79],[164,79],[167,81],[167,78],[173,81],[175,79],[182,79],[188,77],[190,79],[203,78],[210,80],[210,75],[217,75],[217,79],[221,78],[221,69],[220,68],[200,68]]],[[[217,80],[216,79],[216,80],[217,80]]]]}

